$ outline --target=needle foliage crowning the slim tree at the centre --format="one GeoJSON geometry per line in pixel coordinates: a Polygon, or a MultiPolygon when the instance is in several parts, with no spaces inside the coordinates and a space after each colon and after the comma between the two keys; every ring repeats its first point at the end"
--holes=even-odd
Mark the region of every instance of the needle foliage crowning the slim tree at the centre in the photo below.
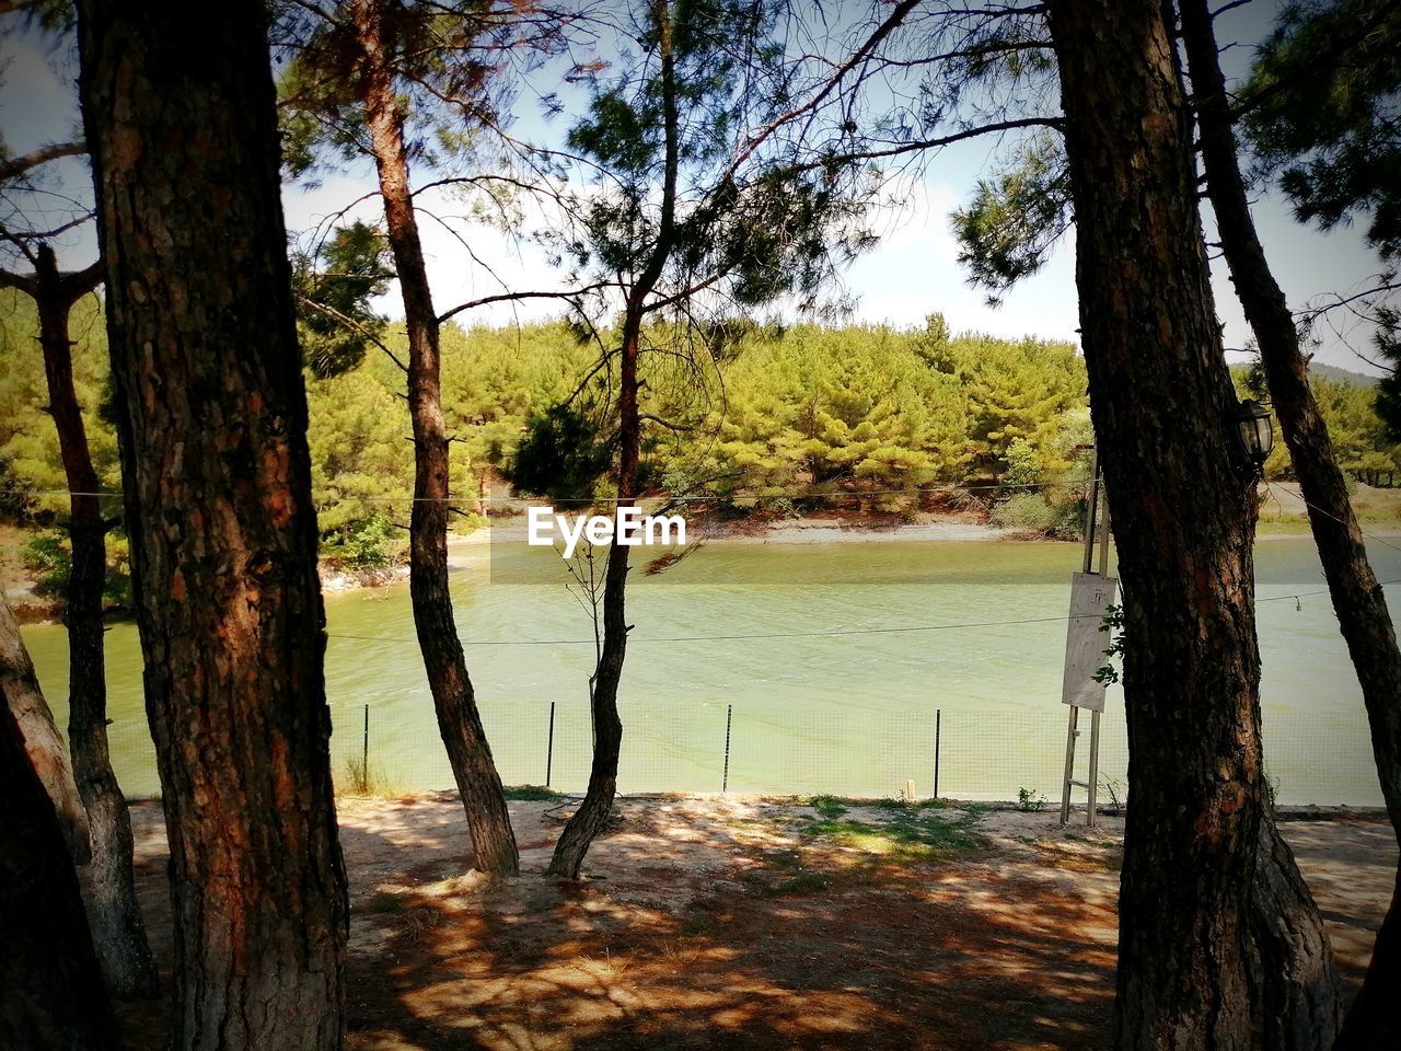
{"type": "Polygon", "coordinates": [[[814,305],[835,265],[871,244],[874,182],[855,165],[803,164],[793,136],[751,137],[793,105],[783,7],[639,3],[629,17],[639,53],[595,70],[569,130],[607,174],[577,200],[584,238],[559,254],[607,277],[647,273],[667,297],[705,283],[740,307],[814,305]]]}

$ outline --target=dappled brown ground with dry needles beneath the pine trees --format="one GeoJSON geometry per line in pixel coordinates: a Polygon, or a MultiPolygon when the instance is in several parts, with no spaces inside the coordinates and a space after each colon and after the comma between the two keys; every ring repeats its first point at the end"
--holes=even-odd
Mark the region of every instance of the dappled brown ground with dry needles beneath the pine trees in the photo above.
{"type": "MultiPolygon", "coordinates": [[[[527,793],[528,795],[528,793],[527,793]]],[[[469,872],[453,793],[340,799],[352,1051],[1107,1045],[1122,818],[818,797],[626,797],[579,883],[556,802],[510,804],[520,879],[469,872]],[[1083,823],[1083,816],[1079,817],[1083,823]]],[[[171,956],[157,803],[142,901],[171,956]]],[[[1286,820],[1349,992],[1390,900],[1384,820],[1286,820]]],[[[160,1048],[164,1005],[119,1005],[160,1048]]]]}

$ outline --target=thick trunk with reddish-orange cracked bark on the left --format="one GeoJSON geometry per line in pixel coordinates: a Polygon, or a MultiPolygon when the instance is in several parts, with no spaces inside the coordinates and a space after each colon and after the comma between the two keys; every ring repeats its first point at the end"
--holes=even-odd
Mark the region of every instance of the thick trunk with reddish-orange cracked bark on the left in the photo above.
{"type": "Polygon", "coordinates": [[[346,881],[266,8],[78,4],[172,1045],[332,1051],[346,881]],[[210,41],[219,41],[210,48],[210,41]]]}

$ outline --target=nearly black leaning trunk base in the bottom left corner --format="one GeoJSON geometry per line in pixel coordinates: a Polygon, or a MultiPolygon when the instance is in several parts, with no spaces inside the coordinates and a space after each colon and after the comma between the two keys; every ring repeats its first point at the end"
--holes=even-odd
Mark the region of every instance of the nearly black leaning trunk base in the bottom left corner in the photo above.
{"type": "Polygon", "coordinates": [[[0,710],[0,1047],[115,1051],[77,874],[8,709],[0,710]]]}

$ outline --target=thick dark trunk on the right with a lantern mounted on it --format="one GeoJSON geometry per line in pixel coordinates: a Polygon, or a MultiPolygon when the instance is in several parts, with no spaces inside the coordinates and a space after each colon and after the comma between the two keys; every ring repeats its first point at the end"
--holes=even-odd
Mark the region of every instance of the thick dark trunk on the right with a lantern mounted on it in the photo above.
{"type": "Polygon", "coordinates": [[[1262,814],[1255,497],[1156,0],[1052,0],[1096,436],[1124,580],[1129,790],[1114,1047],[1251,1044],[1262,814]]]}

